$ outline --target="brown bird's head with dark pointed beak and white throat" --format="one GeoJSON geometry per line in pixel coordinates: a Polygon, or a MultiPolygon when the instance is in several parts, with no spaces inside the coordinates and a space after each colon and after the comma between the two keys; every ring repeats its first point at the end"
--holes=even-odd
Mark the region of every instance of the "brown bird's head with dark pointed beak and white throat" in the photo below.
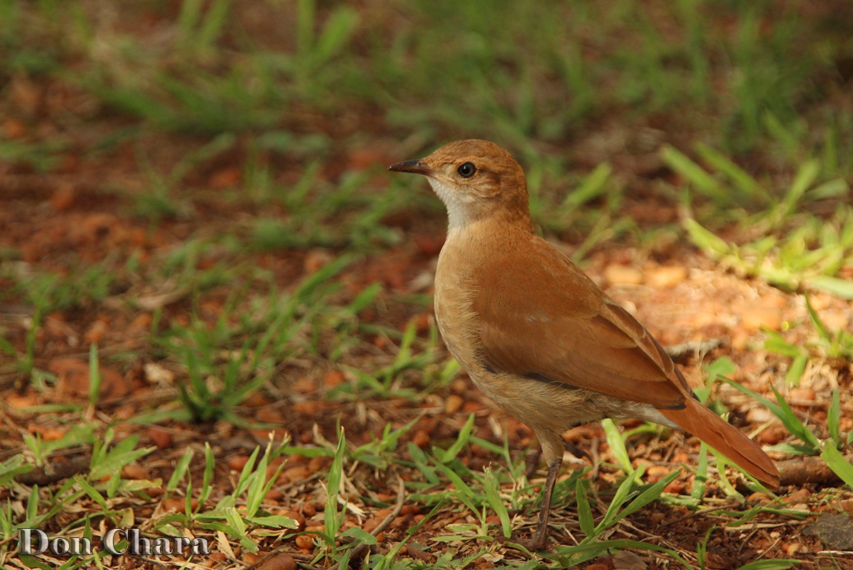
{"type": "Polygon", "coordinates": [[[427,158],[397,162],[388,170],[427,177],[447,206],[450,231],[483,218],[530,218],[525,173],[495,143],[479,139],[448,143],[427,158]]]}

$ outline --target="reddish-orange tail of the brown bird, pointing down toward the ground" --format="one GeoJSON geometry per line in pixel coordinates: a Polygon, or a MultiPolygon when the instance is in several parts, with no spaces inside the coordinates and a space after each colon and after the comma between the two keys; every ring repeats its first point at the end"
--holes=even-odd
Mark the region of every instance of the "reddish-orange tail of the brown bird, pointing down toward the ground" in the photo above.
{"type": "Polygon", "coordinates": [[[771,489],[779,488],[779,471],[758,445],[693,398],[681,410],[659,410],[684,430],[711,445],[746,473],[771,489]]]}

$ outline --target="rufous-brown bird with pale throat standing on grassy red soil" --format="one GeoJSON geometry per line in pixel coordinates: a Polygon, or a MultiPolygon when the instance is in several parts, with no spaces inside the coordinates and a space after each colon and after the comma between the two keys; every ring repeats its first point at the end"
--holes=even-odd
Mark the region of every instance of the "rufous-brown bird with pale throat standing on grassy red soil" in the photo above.
{"type": "Polygon", "coordinates": [[[434,288],[444,344],[542,446],[548,474],[531,548],[548,544],[562,434],[606,417],[682,428],[779,487],[761,447],[705,407],[658,340],[537,234],[525,173],[508,151],[467,139],[388,170],[427,177],[447,210],[434,288]]]}

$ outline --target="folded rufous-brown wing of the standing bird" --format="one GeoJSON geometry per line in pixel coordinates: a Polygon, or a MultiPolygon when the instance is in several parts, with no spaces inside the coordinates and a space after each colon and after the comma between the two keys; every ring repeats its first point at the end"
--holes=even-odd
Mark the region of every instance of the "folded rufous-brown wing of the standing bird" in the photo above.
{"type": "Polygon", "coordinates": [[[657,340],[546,241],[484,271],[474,311],[487,367],[662,409],[692,396],[657,340]]]}

